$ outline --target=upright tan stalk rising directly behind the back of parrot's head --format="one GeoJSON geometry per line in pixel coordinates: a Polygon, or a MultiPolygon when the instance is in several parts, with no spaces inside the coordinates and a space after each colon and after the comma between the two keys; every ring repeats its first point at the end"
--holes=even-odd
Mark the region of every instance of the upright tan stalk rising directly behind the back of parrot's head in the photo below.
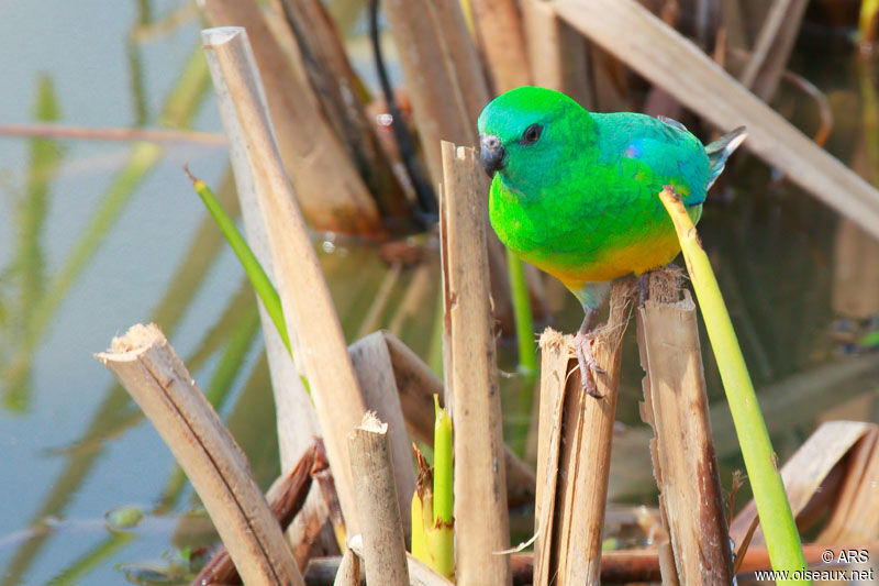
{"type": "Polygon", "coordinates": [[[534,85],[563,91],[592,109],[583,37],[558,18],[547,0],[523,0],[521,5],[534,85]]]}

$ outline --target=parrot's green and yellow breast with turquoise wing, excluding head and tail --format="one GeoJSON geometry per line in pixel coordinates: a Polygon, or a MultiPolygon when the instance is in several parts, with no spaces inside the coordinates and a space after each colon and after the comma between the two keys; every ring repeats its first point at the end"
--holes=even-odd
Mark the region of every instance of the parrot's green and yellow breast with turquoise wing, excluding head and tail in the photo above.
{"type": "Polygon", "coordinates": [[[709,176],[704,148],[686,131],[667,136],[665,125],[652,126],[660,121],[639,114],[593,115],[601,130],[598,156],[575,157],[528,192],[502,174],[491,184],[489,214],[500,240],[567,280],[669,262],[677,252],[674,226],[657,194],[672,185],[698,218],[709,176]],[[655,255],[661,259],[650,255],[653,247],[661,248],[655,255]]]}

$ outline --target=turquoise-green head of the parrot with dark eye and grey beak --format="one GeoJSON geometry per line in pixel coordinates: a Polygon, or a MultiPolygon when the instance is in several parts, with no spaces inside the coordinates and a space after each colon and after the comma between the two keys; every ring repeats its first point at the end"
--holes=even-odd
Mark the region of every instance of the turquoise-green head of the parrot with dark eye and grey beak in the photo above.
{"type": "Polygon", "coordinates": [[[567,162],[596,143],[589,112],[561,92],[532,86],[494,98],[479,114],[477,128],[486,173],[497,173],[526,195],[559,180],[567,162]]]}

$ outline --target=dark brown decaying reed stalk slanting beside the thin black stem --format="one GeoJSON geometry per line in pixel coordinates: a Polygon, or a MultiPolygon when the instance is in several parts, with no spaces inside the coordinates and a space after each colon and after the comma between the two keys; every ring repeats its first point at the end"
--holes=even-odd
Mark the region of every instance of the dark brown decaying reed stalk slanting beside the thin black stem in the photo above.
{"type": "Polygon", "coordinates": [[[383,219],[411,225],[405,192],[379,144],[375,125],[366,115],[365,91],[333,19],[320,0],[276,1],[282,4],[298,44],[300,66],[320,98],[322,112],[378,200],[383,219]]]}

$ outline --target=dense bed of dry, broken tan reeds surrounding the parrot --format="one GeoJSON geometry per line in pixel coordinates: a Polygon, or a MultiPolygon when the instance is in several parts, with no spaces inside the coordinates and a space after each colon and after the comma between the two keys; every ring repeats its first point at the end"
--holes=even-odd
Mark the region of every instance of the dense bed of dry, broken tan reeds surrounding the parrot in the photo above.
{"type": "MultiPolygon", "coordinates": [[[[166,439],[227,550],[198,579],[227,576],[231,559],[240,577],[253,584],[349,585],[364,575],[368,584],[721,584],[770,564],[785,570],[817,564],[821,546],[879,541],[868,522],[856,529],[845,522],[877,515],[865,488],[879,471],[876,425],[822,428],[781,476],[765,429],[756,440],[743,438],[747,430],[760,431],[763,420],[753,396],[738,400],[749,386],[741,364],[732,366],[737,377],[728,377],[728,358],[735,356],[713,325],[717,303],[702,297],[705,258],[693,265],[688,254],[688,268],[705,306],[712,346],[715,353],[719,346],[728,350],[716,360],[756,504],[727,523],[732,511],[716,454],[736,447],[712,434],[697,307],[674,270],[650,277],[648,299],[636,309],[633,280],[614,284],[608,323],[591,342],[605,368],[596,377],[598,397],[582,390],[571,336],[544,332],[533,430],[536,467],[505,445],[502,433],[497,330],[510,309],[520,366],[533,376],[532,314],[544,300],[539,278],[530,279],[518,258],[503,254],[488,225],[488,184],[467,146],[476,143],[481,106],[492,93],[532,81],[583,101],[619,103],[614,76],[624,77],[619,71],[625,64],[710,123],[749,123],[755,154],[876,236],[876,190],[764,101],[782,78],[805,2],[772,4],[738,80],[632,0],[385,4],[424,161],[421,172],[408,167],[408,178],[396,165],[407,154],[381,146],[365,113],[366,92],[320,2],[278,0],[266,9],[256,2],[200,2],[209,21],[223,25],[203,32],[204,48],[247,233],[246,243],[230,237],[240,256],[263,270],[252,272],[252,278],[264,303],[259,320],[269,349],[282,478],[297,478],[298,487],[286,513],[255,491],[231,435],[157,329],[133,332],[148,331],[171,353],[173,373],[133,376],[125,361],[141,352],[134,342],[119,342],[114,352],[99,355],[166,439]],[[420,180],[438,187],[435,208],[425,204],[424,191],[416,192],[420,180]],[[332,201],[322,199],[326,194],[332,201]],[[304,222],[380,240],[423,226],[431,213],[438,217],[442,255],[442,380],[388,332],[367,328],[359,341],[346,344],[304,222]],[[635,312],[646,373],[641,413],[654,434],[649,451],[659,510],[652,529],[658,538],[649,550],[604,551],[623,335],[635,312]],[[174,384],[164,385],[166,379],[174,384]],[[174,395],[178,390],[185,395],[174,395]],[[190,417],[186,409],[192,405],[198,409],[190,417]],[[329,461],[320,469],[313,463],[316,434],[329,461]],[[828,434],[842,439],[815,457],[828,434]],[[418,452],[418,488],[412,438],[434,454],[432,469],[418,452]],[[210,450],[214,445],[216,453],[210,450]],[[803,465],[808,460],[812,466],[803,465]],[[208,463],[220,463],[219,469],[208,463]],[[802,521],[806,504],[834,469],[843,479],[825,497],[822,510],[830,511],[830,522],[803,550],[794,517],[802,521]],[[534,507],[533,554],[510,550],[510,509],[523,505],[534,507]],[[327,527],[344,555],[311,553],[327,527]]],[[[872,20],[865,22],[872,26],[872,20]]],[[[229,234],[236,232],[234,222],[221,223],[229,234]]],[[[681,228],[681,242],[699,248],[691,228],[681,228]]],[[[389,303],[399,268],[393,275],[371,306],[370,324],[389,303]]],[[[256,321],[253,314],[248,323],[255,328],[256,321]]],[[[532,402],[528,394],[522,400],[532,402]]],[[[516,440],[515,447],[524,451],[523,442],[516,440]]],[[[277,489],[268,500],[280,500],[277,489]]]]}

